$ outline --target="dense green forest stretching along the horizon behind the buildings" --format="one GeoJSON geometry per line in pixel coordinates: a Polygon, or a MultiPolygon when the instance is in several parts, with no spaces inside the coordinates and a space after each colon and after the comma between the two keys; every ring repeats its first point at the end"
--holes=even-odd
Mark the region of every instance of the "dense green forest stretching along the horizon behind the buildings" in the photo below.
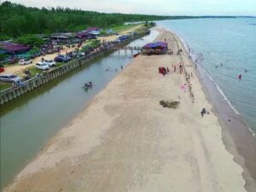
{"type": "MultiPolygon", "coordinates": [[[[80,31],[88,26],[98,26],[106,29],[107,27],[123,25],[124,22],[132,21],[201,18],[146,14],[103,14],[61,7],[29,8],[8,1],[0,5],[0,13],[0,40],[5,40],[9,37],[20,37],[25,34],[80,31]]],[[[114,30],[118,31],[117,29],[114,30]]]]}

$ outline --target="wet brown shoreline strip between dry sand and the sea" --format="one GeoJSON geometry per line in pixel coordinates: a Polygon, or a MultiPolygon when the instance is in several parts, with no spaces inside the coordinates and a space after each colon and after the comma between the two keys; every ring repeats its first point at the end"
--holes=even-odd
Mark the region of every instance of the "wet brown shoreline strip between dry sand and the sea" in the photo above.
{"type": "MultiPolygon", "coordinates": [[[[183,41],[182,37],[179,37],[174,32],[172,34],[182,42],[183,48],[189,54],[188,45],[183,41]]],[[[256,159],[255,133],[247,125],[241,114],[229,103],[229,99],[226,98],[224,93],[221,93],[222,90],[218,90],[218,84],[211,79],[207,71],[200,64],[197,64],[198,70],[195,70],[193,55],[190,54],[190,56],[196,76],[201,82],[202,90],[206,94],[207,100],[212,104],[212,111],[223,127],[224,145],[234,155],[234,161],[243,167],[244,172],[242,174],[246,179],[245,188],[247,191],[253,192],[256,189],[256,164],[253,161],[256,159]],[[230,121],[228,121],[229,119],[230,121]]]]}

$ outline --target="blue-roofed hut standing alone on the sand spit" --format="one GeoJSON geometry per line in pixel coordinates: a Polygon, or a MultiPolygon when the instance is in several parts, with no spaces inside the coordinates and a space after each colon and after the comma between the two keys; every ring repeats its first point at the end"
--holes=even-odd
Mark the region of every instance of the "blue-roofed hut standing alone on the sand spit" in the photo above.
{"type": "Polygon", "coordinates": [[[143,46],[143,54],[166,54],[168,50],[167,42],[151,42],[143,46]]]}

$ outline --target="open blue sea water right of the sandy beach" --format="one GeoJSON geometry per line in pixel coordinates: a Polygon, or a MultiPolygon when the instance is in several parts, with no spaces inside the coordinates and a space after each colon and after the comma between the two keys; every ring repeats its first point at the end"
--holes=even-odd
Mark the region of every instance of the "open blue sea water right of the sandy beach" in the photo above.
{"type": "Polygon", "coordinates": [[[183,39],[230,104],[256,133],[256,18],[164,20],[183,39]],[[241,75],[241,80],[238,76],[241,75]]]}

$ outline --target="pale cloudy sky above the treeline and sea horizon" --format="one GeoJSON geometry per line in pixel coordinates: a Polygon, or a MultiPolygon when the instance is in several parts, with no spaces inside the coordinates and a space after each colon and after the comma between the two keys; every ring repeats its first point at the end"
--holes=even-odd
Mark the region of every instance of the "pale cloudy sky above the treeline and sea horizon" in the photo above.
{"type": "MultiPolygon", "coordinates": [[[[251,15],[256,0],[9,0],[28,7],[68,7],[104,13],[158,15],[251,15]]],[[[3,0],[1,1],[3,2],[3,0]]]]}

